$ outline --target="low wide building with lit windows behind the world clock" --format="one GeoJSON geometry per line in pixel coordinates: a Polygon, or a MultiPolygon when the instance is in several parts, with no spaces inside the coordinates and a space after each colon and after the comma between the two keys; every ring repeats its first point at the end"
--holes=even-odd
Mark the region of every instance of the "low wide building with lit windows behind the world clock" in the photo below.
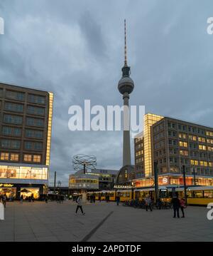
{"type": "Polygon", "coordinates": [[[111,190],[116,184],[119,170],[94,169],[84,173],[83,170],[70,175],[70,192],[75,190],[111,190]]]}

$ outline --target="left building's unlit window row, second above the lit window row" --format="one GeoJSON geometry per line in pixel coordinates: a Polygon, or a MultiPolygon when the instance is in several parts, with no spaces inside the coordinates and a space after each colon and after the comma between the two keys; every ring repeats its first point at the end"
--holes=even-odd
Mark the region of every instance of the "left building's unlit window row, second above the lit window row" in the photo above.
{"type": "MultiPolygon", "coordinates": [[[[16,128],[16,127],[9,127],[9,126],[3,126],[1,130],[2,135],[6,136],[16,136],[21,137],[22,129],[16,128]]],[[[43,131],[42,130],[25,130],[25,136],[26,138],[43,138],[43,131]]]]}

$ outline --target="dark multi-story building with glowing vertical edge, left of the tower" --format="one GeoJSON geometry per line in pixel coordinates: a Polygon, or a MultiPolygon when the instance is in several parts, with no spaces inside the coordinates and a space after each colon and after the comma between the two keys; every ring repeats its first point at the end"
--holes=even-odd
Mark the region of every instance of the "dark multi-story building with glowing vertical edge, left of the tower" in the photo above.
{"type": "Polygon", "coordinates": [[[45,192],[52,115],[53,93],[0,83],[0,194],[45,192]]]}

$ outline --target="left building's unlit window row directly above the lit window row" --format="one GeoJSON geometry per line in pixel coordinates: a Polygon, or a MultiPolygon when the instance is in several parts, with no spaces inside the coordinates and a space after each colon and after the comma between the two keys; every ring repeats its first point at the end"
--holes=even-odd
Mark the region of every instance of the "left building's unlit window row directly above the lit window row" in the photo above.
{"type": "MultiPolygon", "coordinates": [[[[21,140],[1,140],[1,148],[11,148],[11,149],[20,149],[21,148],[21,140]]],[[[24,148],[26,150],[42,150],[43,143],[42,142],[33,142],[26,141],[24,142],[24,148]]]]}

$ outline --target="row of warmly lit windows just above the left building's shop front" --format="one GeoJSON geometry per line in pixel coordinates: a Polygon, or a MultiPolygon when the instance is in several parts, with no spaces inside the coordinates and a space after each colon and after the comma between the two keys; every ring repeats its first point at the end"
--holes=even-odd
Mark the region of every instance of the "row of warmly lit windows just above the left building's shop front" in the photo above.
{"type": "MultiPolygon", "coordinates": [[[[9,161],[9,160],[10,161],[18,161],[19,160],[19,154],[1,152],[0,159],[4,160],[4,161],[9,161]]],[[[23,155],[23,161],[24,162],[40,163],[41,162],[41,155],[24,154],[23,155]]]]}

